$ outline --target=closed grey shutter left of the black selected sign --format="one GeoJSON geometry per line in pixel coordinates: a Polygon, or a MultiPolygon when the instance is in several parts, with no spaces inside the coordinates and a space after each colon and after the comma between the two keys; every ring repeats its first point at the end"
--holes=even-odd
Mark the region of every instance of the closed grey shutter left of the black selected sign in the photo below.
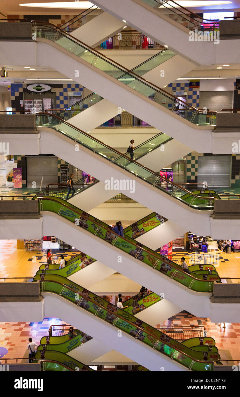
{"type": "Polygon", "coordinates": [[[58,183],[56,156],[27,156],[27,187],[40,187],[43,175],[43,186],[48,183],[58,183]]]}

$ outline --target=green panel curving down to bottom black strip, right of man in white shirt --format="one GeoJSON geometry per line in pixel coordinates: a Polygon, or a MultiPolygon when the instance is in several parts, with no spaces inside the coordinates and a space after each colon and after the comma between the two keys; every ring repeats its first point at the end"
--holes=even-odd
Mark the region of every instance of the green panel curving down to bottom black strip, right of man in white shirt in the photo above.
{"type": "Polygon", "coordinates": [[[73,370],[76,370],[76,368],[79,368],[80,371],[94,371],[87,365],[83,364],[82,362],[75,360],[75,358],[70,357],[69,355],[65,353],[61,353],[60,351],[47,351],[47,350],[38,350],[35,354],[35,358],[39,360],[54,360],[59,362],[59,364],[64,364],[67,365],[69,368],[72,368],[73,370]]]}

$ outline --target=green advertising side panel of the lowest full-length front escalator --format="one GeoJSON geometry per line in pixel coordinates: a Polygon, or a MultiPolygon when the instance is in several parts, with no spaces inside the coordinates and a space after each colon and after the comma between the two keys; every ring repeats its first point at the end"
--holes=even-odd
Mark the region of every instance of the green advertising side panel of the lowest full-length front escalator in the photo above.
{"type": "MultiPolygon", "coordinates": [[[[132,337],[137,337],[139,341],[142,341],[143,343],[146,343],[151,347],[155,347],[157,351],[162,352],[165,355],[171,356],[172,354],[174,354],[173,359],[181,362],[181,364],[187,367],[189,367],[192,363],[192,359],[206,361],[219,359],[219,355],[216,355],[216,353],[214,352],[198,352],[191,350],[189,347],[184,346],[175,339],[156,330],[154,327],[146,324],[142,320],[137,319],[132,314],[129,314],[124,310],[117,308],[113,304],[105,301],[104,299],[98,297],[94,293],[88,291],[87,289],[84,289],[83,287],[70,281],[69,279],[65,279],[55,274],[38,274],[36,276],[36,279],[40,279],[40,276],[42,276],[44,279],[48,279],[48,277],[50,277],[50,279],[53,280],[44,281],[45,292],[53,292],[58,295],[61,293],[61,297],[71,301],[74,304],[79,304],[79,310],[84,309],[91,314],[96,314],[97,312],[97,316],[99,318],[107,321],[109,324],[114,323],[116,329],[127,332],[132,337]],[[55,281],[65,284],[65,287],[63,288],[62,285],[55,283],[55,281]],[[73,291],[70,291],[69,289],[67,289],[67,287],[70,287],[71,289],[73,289],[73,291]],[[80,295],[78,295],[78,292],[82,293],[84,296],[86,296],[86,298],[81,299],[80,295]],[[88,299],[91,299],[95,303],[90,302],[88,299]],[[98,304],[101,304],[101,306],[103,306],[104,308],[99,309],[98,304]],[[114,313],[116,312],[116,314],[122,316],[123,319],[117,318],[115,314],[110,313],[109,310],[114,313]],[[130,323],[126,322],[125,320],[129,321],[130,323]],[[137,326],[141,327],[142,329],[140,333],[137,326]],[[150,332],[153,336],[148,335],[146,331],[150,332]],[[164,342],[168,343],[168,345],[166,345],[166,343],[164,342]],[[187,357],[184,353],[187,353],[192,358],[187,357]]],[[[212,364],[209,364],[208,362],[200,363],[195,361],[192,366],[192,370],[212,370],[212,364]]]]}

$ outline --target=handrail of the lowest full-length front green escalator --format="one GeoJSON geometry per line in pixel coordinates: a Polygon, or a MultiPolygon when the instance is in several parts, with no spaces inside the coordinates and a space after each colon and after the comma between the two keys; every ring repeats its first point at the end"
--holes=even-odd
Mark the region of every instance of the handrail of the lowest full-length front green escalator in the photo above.
{"type": "MultiPolygon", "coordinates": [[[[51,275],[51,274],[49,274],[49,276],[50,276],[50,275],[51,275]]],[[[44,283],[45,281],[46,281],[46,282],[51,282],[51,283],[56,283],[56,284],[61,285],[62,287],[65,287],[65,288],[69,289],[70,291],[76,293],[76,291],[75,291],[74,289],[72,289],[71,287],[69,287],[69,286],[67,286],[67,285],[65,285],[65,284],[63,284],[63,283],[60,283],[59,281],[55,281],[55,280],[51,280],[51,279],[36,280],[36,281],[40,281],[40,283],[44,283]]],[[[47,292],[47,291],[44,291],[44,292],[47,292]]],[[[150,337],[159,340],[160,342],[164,343],[165,345],[168,345],[169,347],[171,347],[171,349],[176,350],[176,348],[175,348],[174,346],[172,346],[171,343],[164,341],[164,339],[162,339],[161,337],[159,337],[159,338],[156,337],[156,335],[153,335],[153,334],[150,333],[149,331],[144,330],[143,328],[139,327],[137,324],[135,324],[135,323],[133,323],[133,322],[131,322],[131,321],[129,321],[129,320],[126,320],[126,319],[125,319],[124,317],[122,317],[120,314],[117,314],[116,312],[112,312],[112,310],[110,310],[109,308],[106,309],[106,308],[105,308],[104,306],[102,306],[100,303],[97,303],[97,302],[93,301],[93,299],[91,299],[91,298],[89,298],[89,297],[86,297],[86,296],[85,296],[84,294],[82,294],[80,291],[78,291],[78,295],[80,295],[82,298],[88,300],[89,302],[94,303],[95,305],[99,306],[101,309],[107,310],[108,312],[110,312],[110,313],[113,314],[114,316],[120,318],[121,320],[127,322],[128,324],[131,324],[132,326],[134,326],[135,328],[137,328],[139,331],[144,331],[144,332],[147,333],[150,337]]],[[[177,350],[177,351],[181,351],[181,350],[179,349],[179,350],[177,350]]],[[[161,352],[161,353],[163,353],[163,352],[161,352]]],[[[219,361],[220,361],[220,360],[198,360],[197,358],[193,358],[193,357],[189,356],[187,353],[184,353],[183,351],[181,351],[181,353],[182,353],[183,355],[185,355],[185,356],[191,358],[192,360],[194,360],[194,361],[196,361],[196,362],[211,363],[211,364],[213,364],[214,362],[219,362],[219,361]]],[[[163,354],[166,355],[166,353],[163,353],[163,354]]],[[[168,356],[168,355],[167,355],[167,356],[168,356]]]]}

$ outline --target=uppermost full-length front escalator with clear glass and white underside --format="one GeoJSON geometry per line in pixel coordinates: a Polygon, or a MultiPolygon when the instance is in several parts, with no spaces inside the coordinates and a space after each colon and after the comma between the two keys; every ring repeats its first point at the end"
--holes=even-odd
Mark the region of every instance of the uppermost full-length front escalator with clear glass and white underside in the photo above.
{"type": "MultiPolygon", "coordinates": [[[[202,111],[181,101],[181,117],[173,112],[179,104],[175,96],[89,46],[76,43],[64,31],[58,29],[56,32],[57,28],[39,23],[34,23],[33,27],[37,35],[34,44],[37,47],[36,62],[39,65],[48,65],[70,78],[74,77],[74,81],[82,83],[140,119],[144,109],[144,121],[153,127],[171,134],[173,138],[197,151],[212,151],[208,142],[212,128],[202,111]],[[60,58],[61,62],[56,62],[60,58]],[[206,128],[200,125],[205,125],[206,128]]],[[[11,46],[10,43],[9,45],[11,46]]],[[[29,55],[32,55],[31,51],[29,55]]]]}

